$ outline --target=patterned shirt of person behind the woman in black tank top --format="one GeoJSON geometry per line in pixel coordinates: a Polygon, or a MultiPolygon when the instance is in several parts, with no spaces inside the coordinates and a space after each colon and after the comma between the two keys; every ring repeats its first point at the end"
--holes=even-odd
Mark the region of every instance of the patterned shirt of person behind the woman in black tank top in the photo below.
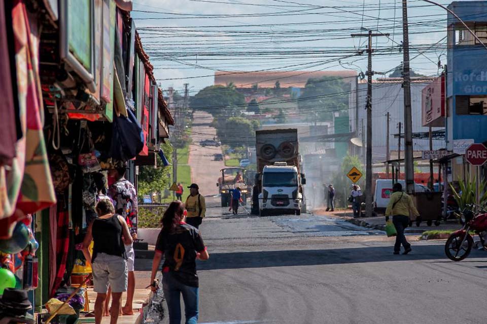
{"type": "Polygon", "coordinates": [[[115,212],[127,222],[131,234],[137,233],[137,193],[130,181],[121,178],[108,189],[108,195],[113,199],[115,212]]]}

